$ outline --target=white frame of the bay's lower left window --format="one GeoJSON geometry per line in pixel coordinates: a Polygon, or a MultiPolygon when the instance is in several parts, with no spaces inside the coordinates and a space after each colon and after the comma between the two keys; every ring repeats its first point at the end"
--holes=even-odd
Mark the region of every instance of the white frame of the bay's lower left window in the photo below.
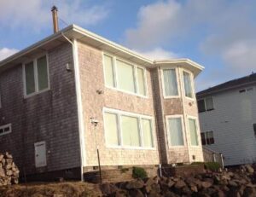
{"type": "Polygon", "coordinates": [[[184,125],[184,116],[183,114],[177,114],[177,115],[166,115],[166,133],[167,133],[167,142],[168,142],[168,148],[184,148],[186,147],[186,133],[185,133],[185,125],[184,125]],[[182,124],[182,132],[183,132],[183,145],[177,145],[173,146],[171,142],[169,142],[170,139],[170,130],[169,130],[169,121],[168,119],[181,119],[182,124]]]}

